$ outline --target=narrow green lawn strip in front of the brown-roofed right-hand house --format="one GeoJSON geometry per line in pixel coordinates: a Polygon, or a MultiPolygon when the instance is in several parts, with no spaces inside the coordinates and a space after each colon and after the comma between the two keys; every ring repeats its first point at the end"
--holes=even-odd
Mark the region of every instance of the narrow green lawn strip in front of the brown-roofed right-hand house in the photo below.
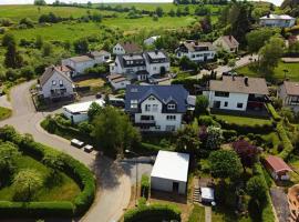
{"type": "Polygon", "coordinates": [[[236,123],[239,125],[262,125],[270,124],[268,119],[257,119],[257,118],[245,118],[237,115],[227,115],[227,114],[214,114],[217,119],[227,121],[228,123],[236,123]]]}

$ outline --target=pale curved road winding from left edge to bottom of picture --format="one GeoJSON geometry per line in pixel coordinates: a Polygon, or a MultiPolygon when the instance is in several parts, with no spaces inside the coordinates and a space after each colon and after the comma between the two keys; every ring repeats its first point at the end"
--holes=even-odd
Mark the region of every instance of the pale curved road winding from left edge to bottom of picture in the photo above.
{"type": "Polygon", "coordinates": [[[89,212],[80,219],[83,222],[114,222],[128,205],[131,181],[121,165],[105,157],[95,157],[70,145],[70,141],[45,132],[40,122],[50,112],[37,112],[29,89],[33,81],[22,83],[11,90],[12,117],[0,125],[13,125],[21,133],[30,133],[34,140],[69,153],[91,168],[97,181],[95,201],[89,212]]]}

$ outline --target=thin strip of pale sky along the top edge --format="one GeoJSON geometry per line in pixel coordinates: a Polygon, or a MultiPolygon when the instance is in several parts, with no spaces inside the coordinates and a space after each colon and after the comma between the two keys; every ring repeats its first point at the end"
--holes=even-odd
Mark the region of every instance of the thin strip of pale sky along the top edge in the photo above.
{"type": "MultiPolygon", "coordinates": [[[[27,4],[32,3],[34,0],[0,0],[0,4],[27,4]]],[[[45,0],[47,3],[52,3],[54,0],[45,0]]],[[[61,0],[64,2],[78,2],[86,3],[89,0],[61,0]]],[[[103,3],[103,2],[173,2],[173,0],[90,0],[93,3],[103,3]]],[[[258,0],[257,0],[258,1],[258,0]]],[[[276,6],[280,6],[283,0],[266,0],[272,2],[276,6]]],[[[1,14],[0,14],[1,17],[1,14]]]]}

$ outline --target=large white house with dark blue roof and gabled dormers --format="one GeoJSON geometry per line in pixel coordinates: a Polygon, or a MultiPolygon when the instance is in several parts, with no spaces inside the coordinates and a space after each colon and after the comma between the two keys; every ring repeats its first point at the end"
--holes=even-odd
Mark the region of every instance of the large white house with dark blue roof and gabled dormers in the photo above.
{"type": "Polygon", "coordinates": [[[176,131],[186,113],[188,92],[181,84],[126,87],[125,111],[142,131],[176,131]]]}

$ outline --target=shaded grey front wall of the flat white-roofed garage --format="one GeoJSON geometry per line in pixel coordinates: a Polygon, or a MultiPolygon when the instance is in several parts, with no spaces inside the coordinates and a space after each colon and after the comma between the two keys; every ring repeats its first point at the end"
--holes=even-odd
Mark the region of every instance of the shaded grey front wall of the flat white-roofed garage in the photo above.
{"type": "Polygon", "coordinates": [[[173,183],[174,182],[178,183],[178,193],[185,194],[186,193],[186,182],[173,181],[173,180],[163,179],[163,178],[151,176],[151,189],[166,191],[166,192],[173,192],[173,183]]]}

